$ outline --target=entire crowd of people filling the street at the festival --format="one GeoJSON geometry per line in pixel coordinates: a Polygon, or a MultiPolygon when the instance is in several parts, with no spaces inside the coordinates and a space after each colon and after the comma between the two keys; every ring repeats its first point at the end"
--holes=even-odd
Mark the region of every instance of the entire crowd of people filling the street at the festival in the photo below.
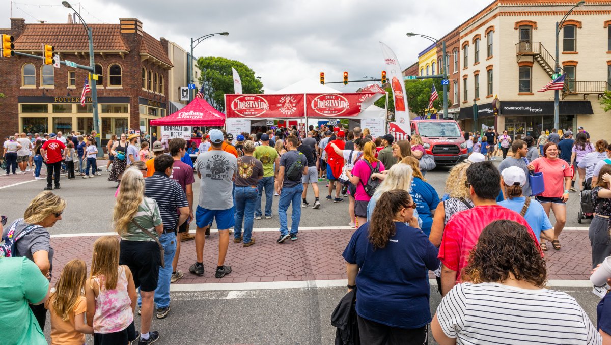
{"type": "Polygon", "coordinates": [[[199,145],[136,133],[111,138],[106,171],[117,183],[112,224],[119,236],[95,241],[89,274],[82,260],[65,264],[53,292],[49,228],[62,219],[67,202],[51,190],[60,187],[62,164],[67,179],[75,172],[99,175],[95,133],[7,138],[7,175],[16,170],[13,162],[23,173],[34,167],[36,178],[42,162],[48,169],[45,191],[23,218],[2,219],[7,243],[0,246],[0,275],[6,279],[0,291],[10,293],[0,294],[0,305],[19,307],[0,320],[24,320],[9,327],[7,344],[46,344],[47,311],[53,344],[82,344],[86,334],[95,344],[154,343],[160,335],[152,330],[153,315],[168,316],[170,284],[185,276],[177,269],[181,242],[194,239],[189,271],[203,275],[203,249],[216,222],[218,260],[207,264],[216,278],[231,274],[225,263],[231,236],[234,244],[255,245],[254,222],[273,218],[274,195],[278,244],[297,241],[303,208],[324,209],[321,198],[345,202],[348,225],[356,228],[343,252],[345,298],[356,300],[362,344],[423,344],[429,327],[439,344],[611,339],[611,302],[601,301],[597,329],[573,297],[545,288],[546,241],[562,249],[566,202],[577,189],[591,191],[596,209],[589,233],[593,269],[611,256],[611,145],[591,143],[582,128],[576,140],[571,131],[560,140],[555,129],[537,140],[491,128],[481,137],[465,133],[469,158],[452,167],[441,197],[421,169],[428,153],[417,134],[374,138],[367,128],[330,125],[306,133],[240,133],[235,140],[220,129],[196,134],[199,145]],[[496,147],[499,164],[491,162],[496,147]],[[532,183],[535,173],[543,176],[543,191],[532,183]],[[326,187],[322,197],[319,184],[326,187]],[[433,314],[428,271],[444,296],[433,314]]]}

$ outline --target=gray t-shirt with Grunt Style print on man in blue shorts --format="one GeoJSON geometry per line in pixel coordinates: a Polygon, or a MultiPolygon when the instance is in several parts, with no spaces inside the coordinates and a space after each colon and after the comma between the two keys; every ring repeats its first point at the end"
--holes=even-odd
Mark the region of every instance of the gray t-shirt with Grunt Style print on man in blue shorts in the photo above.
{"type": "Polygon", "coordinates": [[[205,209],[232,208],[238,159],[229,152],[210,150],[197,156],[195,167],[201,175],[198,205],[205,209]]]}

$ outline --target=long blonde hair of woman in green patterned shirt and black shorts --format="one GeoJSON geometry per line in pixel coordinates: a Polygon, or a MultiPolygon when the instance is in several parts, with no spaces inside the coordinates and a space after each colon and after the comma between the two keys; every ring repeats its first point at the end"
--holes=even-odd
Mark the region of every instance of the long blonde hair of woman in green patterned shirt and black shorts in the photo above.
{"type": "Polygon", "coordinates": [[[144,198],[142,173],[137,169],[126,169],[112,210],[113,227],[120,235],[127,231],[131,220],[136,216],[142,198],[144,198]]]}

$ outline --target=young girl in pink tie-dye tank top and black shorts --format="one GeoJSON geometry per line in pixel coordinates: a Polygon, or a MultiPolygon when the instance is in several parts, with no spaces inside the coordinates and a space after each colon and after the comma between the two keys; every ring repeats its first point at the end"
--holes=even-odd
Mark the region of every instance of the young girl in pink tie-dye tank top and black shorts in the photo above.
{"type": "Polygon", "coordinates": [[[85,284],[87,324],[95,345],[125,345],[136,340],[136,286],[127,266],[119,266],[119,238],[102,236],[93,243],[90,278],[85,284]]]}

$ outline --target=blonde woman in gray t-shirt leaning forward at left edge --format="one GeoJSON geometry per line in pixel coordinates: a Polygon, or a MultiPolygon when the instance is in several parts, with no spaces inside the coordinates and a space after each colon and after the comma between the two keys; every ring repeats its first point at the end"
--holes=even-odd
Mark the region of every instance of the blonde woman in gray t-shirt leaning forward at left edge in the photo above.
{"type": "MultiPolygon", "coordinates": [[[[9,231],[13,231],[15,238],[22,236],[19,241],[15,241],[15,253],[11,253],[10,256],[24,256],[34,261],[49,281],[53,269],[53,248],[48,228],[53,227],[57,220],[62,220],[65,207],[64,199],[49,191],[42,192],[32,199],[23,218],[15,220],[2,232],[2,237],[7,236],[9,231]]],[[[45,329],[45,305],[31,304],[30,308],[40,329],[45,329]]]]}

